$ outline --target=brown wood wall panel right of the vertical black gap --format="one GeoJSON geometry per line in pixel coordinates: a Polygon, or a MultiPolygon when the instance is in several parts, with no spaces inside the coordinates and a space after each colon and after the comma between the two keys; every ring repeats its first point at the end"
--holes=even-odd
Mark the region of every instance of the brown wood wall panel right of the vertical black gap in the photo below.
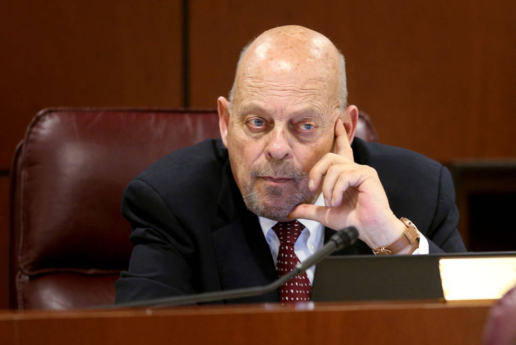
{"type": "Polygon", "coordinates": [[[439,161],[516,156],[515,2],[192,1],[190,18],[192,105],[230,90],[252,37],[297,23],[343,51],[349,101],[382,143],[439,161]]]}

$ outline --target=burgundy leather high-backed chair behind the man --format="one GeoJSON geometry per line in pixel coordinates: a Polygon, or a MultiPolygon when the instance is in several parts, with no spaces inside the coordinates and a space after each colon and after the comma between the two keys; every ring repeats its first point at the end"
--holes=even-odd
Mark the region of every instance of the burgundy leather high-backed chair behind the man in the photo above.
{"type": "MultiPolygon", "coordinates": [[[[368,117],[357,135],[377,139],[368,117]]],[[[47,109],[15,151],[10,307],[112,303],[127,268],[123,188],[175,149],[220,137],[215,111],[47,109]]]]}

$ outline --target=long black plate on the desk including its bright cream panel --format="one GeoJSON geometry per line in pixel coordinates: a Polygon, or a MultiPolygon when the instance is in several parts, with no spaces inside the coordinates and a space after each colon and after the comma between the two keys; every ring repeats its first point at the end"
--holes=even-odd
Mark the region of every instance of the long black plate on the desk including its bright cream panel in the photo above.
{"type": "Polygon", "coordinates": [[[330,256],[313,301],[494,300],[516,285],[516,252],[330,256]]]}

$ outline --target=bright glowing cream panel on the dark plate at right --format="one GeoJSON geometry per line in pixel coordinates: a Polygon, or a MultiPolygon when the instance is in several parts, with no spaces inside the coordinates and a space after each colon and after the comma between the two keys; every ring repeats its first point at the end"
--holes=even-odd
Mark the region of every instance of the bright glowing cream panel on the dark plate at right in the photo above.
{"type": "Polygon", "coordinates": [[[516,285],[516,257],[454,257],[439,260],[444,299],[501,298],[516,285]]]}

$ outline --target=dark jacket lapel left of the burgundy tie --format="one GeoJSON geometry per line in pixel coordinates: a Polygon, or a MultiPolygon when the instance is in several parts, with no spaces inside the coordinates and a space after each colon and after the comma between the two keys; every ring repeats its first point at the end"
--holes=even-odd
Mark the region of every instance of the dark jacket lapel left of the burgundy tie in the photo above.
{"type": "MultiPolygon", "coordinates": [[[[217,200],[225,224],[212,233],[215,257],[224,290],[266,285],[276,279],[276,268],[258,217],[247,210],[234,182],[229,160],[224,166],[217,200]]],[[[278,291],[228,302],[278,301],[278,291]]]]}

